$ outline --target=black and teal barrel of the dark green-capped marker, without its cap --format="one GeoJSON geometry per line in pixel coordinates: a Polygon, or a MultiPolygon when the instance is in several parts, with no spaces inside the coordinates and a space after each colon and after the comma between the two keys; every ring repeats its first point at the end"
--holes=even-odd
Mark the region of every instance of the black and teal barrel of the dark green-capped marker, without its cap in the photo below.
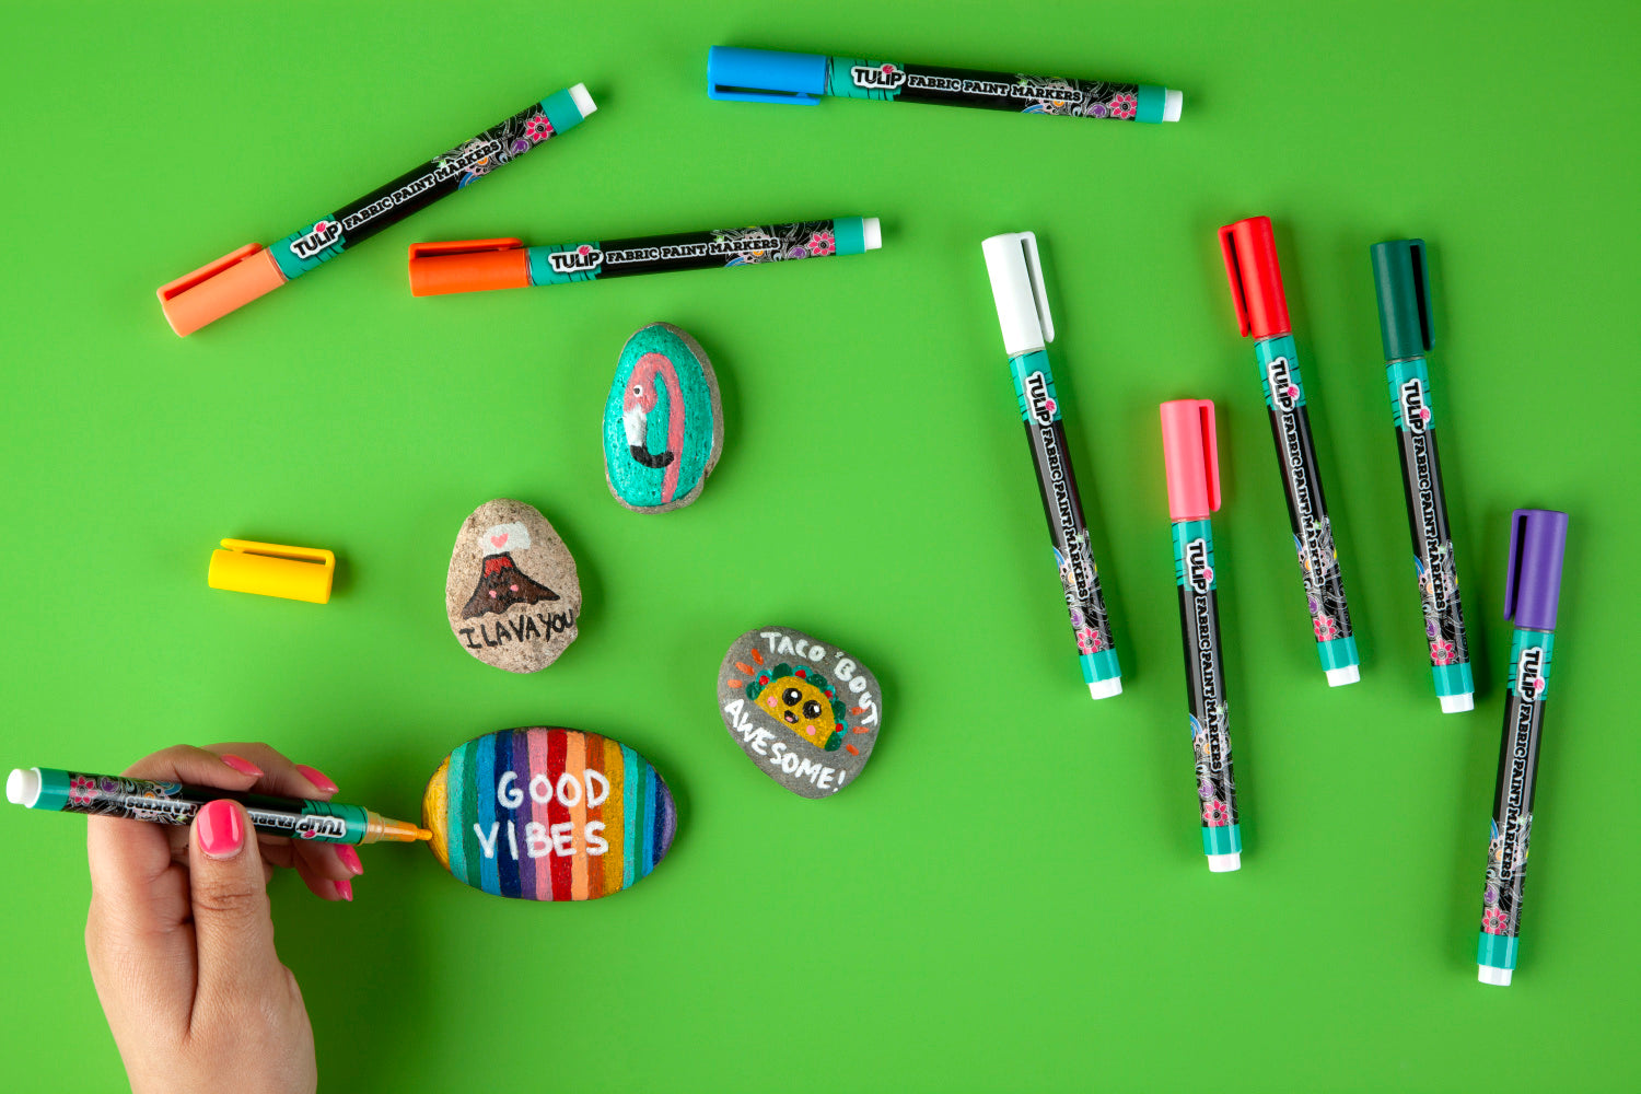
{"type": "Polygon", "coordinates": [[[1475,686],[1470,677],[1464,610],[1459,605],[1459,571],[1452,533],[1447,528],[1447,500],[1442,495],[1434,407],[1429,399],[1424,358],[1393,361],[1385,367],[1385,381],[1390,385],[1390,410],[1396,423],[1401,487],[1408,505],[1408,530],[1413,535],[1413,563],[1418,569],[1424,640],[1429,645],[1436,695],[1444,712],[1470,710],[1475,686]]]}

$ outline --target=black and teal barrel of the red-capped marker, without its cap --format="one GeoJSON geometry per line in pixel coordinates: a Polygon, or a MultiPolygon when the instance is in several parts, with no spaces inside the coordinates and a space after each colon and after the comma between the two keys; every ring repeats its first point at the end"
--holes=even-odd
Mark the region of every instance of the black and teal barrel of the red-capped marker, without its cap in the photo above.
{"type": "Polygon", "coordinates": [[[1254,344],[1259,358],[1270,433],[1277,443],[1277,463],[1288,499],[1288,526],[1305,581],[1306,610],[1316,635],[1316,653],[1328,684],[1354,684],[1360,679],[1355,636],[1351,633],[1351,610],[1339,577],[1339,554],[1334,548],[1332,522],[1323,499],[1323,479],[1316,467],[1311,418],[1305,408],[1305,384],[1293,336],[1265,338],[1254,344]]]}

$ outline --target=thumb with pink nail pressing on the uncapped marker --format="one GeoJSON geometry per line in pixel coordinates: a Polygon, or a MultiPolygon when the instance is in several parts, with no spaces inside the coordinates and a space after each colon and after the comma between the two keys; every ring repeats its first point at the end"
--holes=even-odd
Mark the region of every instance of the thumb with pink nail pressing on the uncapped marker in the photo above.
{"type": "Polygon", "coordinates": [[[195,999],[207,1009],[254,999],[281,969],[263,856],[238,802],[215,800],[194,817],[189,887],[199,948],[195,999]]]}

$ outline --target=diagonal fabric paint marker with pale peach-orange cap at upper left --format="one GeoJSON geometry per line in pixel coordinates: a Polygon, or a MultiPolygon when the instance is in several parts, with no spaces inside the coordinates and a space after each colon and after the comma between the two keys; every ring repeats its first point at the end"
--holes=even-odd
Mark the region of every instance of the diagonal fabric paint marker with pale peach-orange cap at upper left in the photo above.
{"type": "Polygon", "coordinates": [[[159,307],[171,330],[190,335],[581,125],[594,110],[597,103],[584,84],[555,92],[335,213],[297,228],[271,248],[248,243],[161,285],[159,307]]]}

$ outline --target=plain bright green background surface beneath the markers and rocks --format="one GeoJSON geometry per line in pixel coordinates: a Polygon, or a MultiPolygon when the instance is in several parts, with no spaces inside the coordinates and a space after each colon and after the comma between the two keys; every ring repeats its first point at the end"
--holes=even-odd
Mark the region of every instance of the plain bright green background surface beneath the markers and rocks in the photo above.
{"type": "MultiPolygon", "coordinates": [[[[414,814],[455,745],[560,723],[666,776],[679,836],[587,905],[369,848],[351,905],[274,884],[335,1091],[1634,1089],[1641,520],[1633,3],[7,5],[3,763],[266,740],[414,814]],[[1172,126],[711,102],[714,43],[1180,87],[1172,126]],[[535,97],[599,113],[187,340],[154,289],[271,243],[535,97]],[[537,243],[865,213],[880,253],[430,300],[418,239],[537,243]],[[1364,679],[1329,691],[1214,230],[1277,221],[1364,679]],[[1034,228],[1124,663],[1076,676],[980,239],[1034,228]],[[1438,712],[1367,246],[1431,244],[1477,656],[1438,712]],[[622,341],[712,354],[724,461],[619,507],[622,341]],[[1193,818],[1157,402],[1216,400],[1244,869],[1193,818]],[[1625,485],[1630,482],[1631,485],[1625,485]],[[450,548],[492,497],[574,549],[583,635],[466,656],[450,548]],[[1521,964],[1475,982],[1513,507],[1572,513],[1521,964]],[[205,586],[222,536],[340,556],[327,607],[205,586]],[[886,718],[801,800],[714,672],[770,622],[843,645],[886,718]],[[407,1007],[422,1030],[404,1030],[407,1007]]],[[[82,823],[0,812],[16,1089],[121,1079],[82,823]]]]}

